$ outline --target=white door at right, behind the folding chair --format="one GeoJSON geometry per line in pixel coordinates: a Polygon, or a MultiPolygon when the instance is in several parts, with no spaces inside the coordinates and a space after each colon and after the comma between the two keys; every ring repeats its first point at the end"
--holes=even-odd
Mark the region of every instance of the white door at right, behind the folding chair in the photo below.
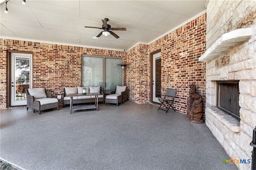
{"type": "Polygon", "coordinates": [[[153,55],[153,102],[161,98],[161,53],[153,55]]]}

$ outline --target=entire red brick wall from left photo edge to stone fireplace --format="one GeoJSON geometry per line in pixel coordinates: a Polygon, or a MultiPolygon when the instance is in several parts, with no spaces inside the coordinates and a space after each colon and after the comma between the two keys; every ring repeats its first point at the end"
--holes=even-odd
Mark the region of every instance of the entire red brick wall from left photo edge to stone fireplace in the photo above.
{"type": "Polygon", "coordinates": [[[65,86],[81,86],[82,54],[122,57],[124,63],[129,64],[124,71],[128,99],[142,104],[150,102],[150,53],[161,49],[162,94],[166,88],[176,88],[174,107],[186,113],[189,84],[196,84],[205,102],[205,63],[198,61],[205,51],[205,38],[206,14],[149,45],[138,44],[127,52],[0,39],[0,108],[7,106],[8,50],[33,53],[33,87],[46,87],[54,97],[60,95],[65,86]]]}

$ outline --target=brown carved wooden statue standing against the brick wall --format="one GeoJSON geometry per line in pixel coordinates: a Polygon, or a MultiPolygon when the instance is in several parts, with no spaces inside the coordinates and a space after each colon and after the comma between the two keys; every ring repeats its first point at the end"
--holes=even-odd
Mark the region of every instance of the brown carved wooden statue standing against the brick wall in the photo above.
{"type": "Polygon", "coordinates": [[[187,121],[191,121],[192,123],[203,123],[203,101],[202,96],[196,93],[196,85],[190,84],[188,86],[189,90],[189,97],[187,103],[187,121]]]}

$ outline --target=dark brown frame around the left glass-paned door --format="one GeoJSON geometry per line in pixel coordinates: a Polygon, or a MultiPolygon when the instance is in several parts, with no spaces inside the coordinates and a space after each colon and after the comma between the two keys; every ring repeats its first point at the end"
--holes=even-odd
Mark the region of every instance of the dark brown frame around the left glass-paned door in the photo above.
{"type": "MultiPolygon", "coordinates": [[[[23,54],[31,54],[32,55],[32,63],[31,63],[31,69],[32,69],[32,72],[31,72],[31,77],[33,78],[33,52],[29,52],[29,51],[18,51],[18,50],[8,50],[7,51],[7,107],[10,107],[11,106],[11,66],[12,66],[12,63],[11,63],[11,56],[12,56],[12,53],[23,53],[23,54]]],[[[33,87],[33,79],[32,79],[32,82],[31,82],[31,86],[33,87]]]]}

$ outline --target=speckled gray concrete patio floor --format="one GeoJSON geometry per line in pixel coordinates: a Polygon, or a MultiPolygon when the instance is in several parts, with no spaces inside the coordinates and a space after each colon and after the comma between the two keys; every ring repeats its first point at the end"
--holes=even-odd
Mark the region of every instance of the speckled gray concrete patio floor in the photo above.
{"type": "Polygon", "coordinates": [[[152,104],[0,110],[0,159],[25,170],[234,170],[208,127],[152,104]]]}

